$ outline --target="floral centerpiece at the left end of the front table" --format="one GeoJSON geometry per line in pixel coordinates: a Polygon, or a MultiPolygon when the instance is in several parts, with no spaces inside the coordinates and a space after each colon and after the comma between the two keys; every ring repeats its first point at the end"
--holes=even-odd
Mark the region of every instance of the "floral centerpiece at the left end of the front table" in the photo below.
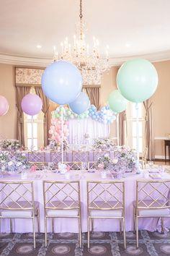
{"type": "Polygon", "coordinates": [[[12,155],[9,151],[0,151],[0,168],[4,168],[5,171],[22,172],[30,168],[30,163],[22,152],[12,155]]]}

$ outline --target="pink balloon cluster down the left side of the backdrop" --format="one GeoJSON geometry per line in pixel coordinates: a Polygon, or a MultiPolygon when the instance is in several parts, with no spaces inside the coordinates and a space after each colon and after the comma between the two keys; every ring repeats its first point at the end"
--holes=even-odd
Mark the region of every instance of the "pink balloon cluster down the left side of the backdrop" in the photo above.
{"type": "MultiPolygon", "coordinates": [[[[51,119],[51,126],[50,126],[50,135],[53,140],[56,142],[61,142],[62,138],[62,129],[61,129],[61,121],[55,119],[54,117],[51,119]]],[[[67,140],[69,135],[68,132],[68,121],[63,121],[63,140],[67,140]]]]}

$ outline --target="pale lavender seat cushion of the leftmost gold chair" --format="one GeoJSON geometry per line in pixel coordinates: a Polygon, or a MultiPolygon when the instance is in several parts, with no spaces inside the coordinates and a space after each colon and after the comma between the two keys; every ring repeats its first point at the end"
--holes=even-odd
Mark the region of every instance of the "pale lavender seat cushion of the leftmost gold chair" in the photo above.
{"type": "MultiPolygon", "coordinates": [[[[9,210],[1,210],[1,216],[2,217],[11,217],[11,218],[29,218],[32,217],[32,210],[22,210],[24,208],[31,208],[31,205],[27,201],[20,201],[19,205],[17,202],[9,202],[8,207],[10,208],[9,210]],[[21,207],[19,207],[21,205],[21,207]],[[18,210],[12,210],[12,208],[18,210]]],[[[39,209],[39,202],[35,201],[35,216],[37,216],[37,210],[39,209]]]]}

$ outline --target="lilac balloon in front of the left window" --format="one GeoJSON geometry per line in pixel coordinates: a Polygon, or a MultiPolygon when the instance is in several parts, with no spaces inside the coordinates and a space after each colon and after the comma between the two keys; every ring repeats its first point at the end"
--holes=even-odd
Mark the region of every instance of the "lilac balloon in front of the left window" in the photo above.
{"type": "Polygon", "coordinates": [[[29,93],[22,98],[22,111],[24,111],[24,113],[34,116],[38,114],[41,109],[42,101],[38,95],[29,93]]]}

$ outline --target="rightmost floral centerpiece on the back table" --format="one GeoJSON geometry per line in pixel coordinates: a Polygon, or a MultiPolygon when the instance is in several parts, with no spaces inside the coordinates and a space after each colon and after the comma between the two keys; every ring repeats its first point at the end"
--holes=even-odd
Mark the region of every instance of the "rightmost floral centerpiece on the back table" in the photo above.
{"type": "Polygon", "coordinates": [[[96,139],[93,148],[94,150],[113,150],[115,144],[110,139],[96,139]]]}

